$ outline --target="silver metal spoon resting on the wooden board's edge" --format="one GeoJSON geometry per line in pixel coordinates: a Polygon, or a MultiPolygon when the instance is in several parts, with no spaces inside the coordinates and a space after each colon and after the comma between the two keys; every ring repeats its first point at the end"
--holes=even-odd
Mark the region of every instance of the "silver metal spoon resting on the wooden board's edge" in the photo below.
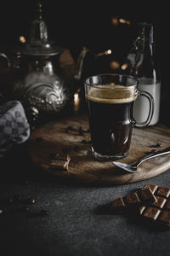
{"type": "Polygon", "coordinates": [[[113,161],[113,165],[127,171],[127,172],[137,172],[138,171],[138,166],[144,162],[144,160],[148,160],[150,158],[162,155],[162,154],[169,154],[170,153],[170,147],[168,148],[164,148],[162,150],[150,153],[148,155],[145,155],[143,158],[139,159],[136,163],[134,163],[133,165],[128,165],[128,164],[123,164],[121,162],[116,162],[113,161]]]}

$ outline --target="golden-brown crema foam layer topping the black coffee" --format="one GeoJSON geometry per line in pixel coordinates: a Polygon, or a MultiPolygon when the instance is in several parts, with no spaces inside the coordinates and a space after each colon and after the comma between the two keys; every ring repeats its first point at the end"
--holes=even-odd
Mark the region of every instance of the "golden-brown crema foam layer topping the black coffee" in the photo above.
{"type": "Polygon", "coordinates": [[[134,90],[134,88],[125,87],[121,84],[104,84],[90,88],[86,97],[92,102],[121,104],[136,100],[138,94],[134,90]]]}

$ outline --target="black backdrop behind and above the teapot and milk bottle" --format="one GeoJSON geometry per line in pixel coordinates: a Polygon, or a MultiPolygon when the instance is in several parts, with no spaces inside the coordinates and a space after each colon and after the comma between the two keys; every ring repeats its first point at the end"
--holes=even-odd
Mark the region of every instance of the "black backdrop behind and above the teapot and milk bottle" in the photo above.
{"type": "MultiPolygon", "coordinates": [[[[21,35],[28,38],[37,2],[6,0],[0,3],[0,49],[13,49],[14,45],[19,44],[21,35]]],[[[110,58],[123,64],[137,37],[139,22],[151,22],[155,27],[156,56],[161,67],[162,112],[169,108],[169,8],[165,2],[43,0],[41,3],[43,18],[48,25],[48,38],[70,49],[75,61],[85,46],[96,54],[112,49],[110,58]],[[111,22],[113,17],[130,20],[131,23],[114,26],[111,22]]]]}

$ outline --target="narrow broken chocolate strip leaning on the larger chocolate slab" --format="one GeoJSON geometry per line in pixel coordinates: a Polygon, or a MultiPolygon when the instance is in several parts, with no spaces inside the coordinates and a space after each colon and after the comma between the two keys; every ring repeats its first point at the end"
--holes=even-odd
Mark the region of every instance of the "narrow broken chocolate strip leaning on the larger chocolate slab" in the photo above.
{"type": "Polygon", "coordinates": [[[120,197],[111,202],[112,212],[124,212],[129,208],[156,203],[156,196],[150,187],[144,187],[136,192],[120,197]]]}

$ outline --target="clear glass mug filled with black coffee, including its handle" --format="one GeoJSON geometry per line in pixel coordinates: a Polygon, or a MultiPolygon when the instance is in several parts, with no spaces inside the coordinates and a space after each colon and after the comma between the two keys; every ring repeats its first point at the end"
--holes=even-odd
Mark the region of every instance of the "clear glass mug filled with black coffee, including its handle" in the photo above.
{"type": "Polygon", "coordinates": [[[153,97],[139,90],[137,79],[124,74],[94,75],[85,80],[84,87],[92,153],[99,160],[125,157],[130,148],[133,126],[150,124],[153,97]],[[150,102],[150,112],[142,123],[133,119],[133,102],[139,95],[146,96],[150,102]]]}

